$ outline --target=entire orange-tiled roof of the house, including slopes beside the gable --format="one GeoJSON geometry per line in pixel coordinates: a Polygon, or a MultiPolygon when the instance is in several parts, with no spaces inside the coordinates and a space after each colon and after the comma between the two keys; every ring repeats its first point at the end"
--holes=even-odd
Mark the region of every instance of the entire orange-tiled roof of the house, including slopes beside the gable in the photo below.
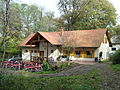
{"type": "MultiPolygon", "coordinates": [[[[106,29],[77,30],[63,32],[39,32],[46,40],[53,45],[63,45],[64,47],[99,47],[104,40],[106,29]]],[[[26,43],[35,35],[29,35],[19,46],[26,43]]]]}

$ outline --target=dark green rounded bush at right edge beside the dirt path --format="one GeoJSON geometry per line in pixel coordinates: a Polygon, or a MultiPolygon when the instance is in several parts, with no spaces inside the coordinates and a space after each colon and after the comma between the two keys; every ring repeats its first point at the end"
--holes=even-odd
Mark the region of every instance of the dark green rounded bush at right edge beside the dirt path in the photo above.
{"type": "Polygon", "coordinates": [[[110,57],[110,60],[113,64],[120,64],[120,49],[110,57]]]}

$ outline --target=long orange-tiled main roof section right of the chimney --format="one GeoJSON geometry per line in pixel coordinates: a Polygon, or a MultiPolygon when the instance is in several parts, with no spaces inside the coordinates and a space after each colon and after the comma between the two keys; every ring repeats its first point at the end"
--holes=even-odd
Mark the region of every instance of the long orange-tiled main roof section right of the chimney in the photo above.
{"type": "Polygon", "coordinates": [[[64,46],[99,47],[105,34],[105,29],[64,31],[62,40],[64,46]]]}

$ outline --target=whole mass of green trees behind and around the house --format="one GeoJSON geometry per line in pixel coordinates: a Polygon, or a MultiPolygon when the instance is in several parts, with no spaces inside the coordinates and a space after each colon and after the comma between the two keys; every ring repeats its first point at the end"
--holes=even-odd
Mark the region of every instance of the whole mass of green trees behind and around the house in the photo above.
{"type": "Polygon", "coordinates": [[[37,31],[96,29],[109,26],[110,36],[120,35],[115,8],[108,0],[59,0],[59,18],[36,5],[0,0],[0,58],[20,55],[18,44],[37,31]],[[110,27],[111,26],[111,27],[110,27]]]}

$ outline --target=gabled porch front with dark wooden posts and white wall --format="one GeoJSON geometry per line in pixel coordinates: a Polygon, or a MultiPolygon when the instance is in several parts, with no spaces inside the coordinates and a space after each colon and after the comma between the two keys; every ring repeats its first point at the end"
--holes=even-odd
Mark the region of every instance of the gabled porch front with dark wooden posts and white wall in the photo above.
{"type": "Polygon", "coordinates": [[[22,59],[37,62],[48,61],[48,57],[59,47],[59,45],[52,45],[39,33],[32,37],[27,45],[28,47],[22,48],[22,59]]]}

